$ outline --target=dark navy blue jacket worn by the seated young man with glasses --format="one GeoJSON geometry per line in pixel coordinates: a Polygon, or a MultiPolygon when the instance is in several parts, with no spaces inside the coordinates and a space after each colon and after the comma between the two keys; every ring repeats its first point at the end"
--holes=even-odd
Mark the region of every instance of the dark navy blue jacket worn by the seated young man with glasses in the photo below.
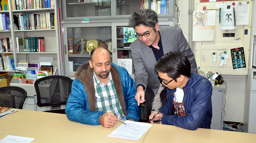
{"type": "Polygon", "coordinates": [[[189,130],[197,128],[210,129],[212,120],[212,85],[201,75],[191,73],[185,87],[183,87],[183,103],[185,116],[178,117],[173,111],[173,96],[176,89],[166,88],[166,101],[160,109],[164,114],[162,124],[175,125],[189,130]]]}

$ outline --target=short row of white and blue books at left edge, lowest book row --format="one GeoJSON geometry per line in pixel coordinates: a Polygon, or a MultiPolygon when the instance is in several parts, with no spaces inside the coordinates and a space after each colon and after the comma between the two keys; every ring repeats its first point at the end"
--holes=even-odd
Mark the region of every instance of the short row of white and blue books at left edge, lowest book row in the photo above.
{"type": "Polygon", "coordinates": [[[2,70],[14,70],[14,58],[12,54],[4,54],[0,56],[0,69],[2,70]]]}

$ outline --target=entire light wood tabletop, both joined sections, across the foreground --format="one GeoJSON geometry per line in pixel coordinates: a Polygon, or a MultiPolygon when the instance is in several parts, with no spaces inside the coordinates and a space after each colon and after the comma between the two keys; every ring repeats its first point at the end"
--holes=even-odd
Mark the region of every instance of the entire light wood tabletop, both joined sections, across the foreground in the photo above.
{"type": "Polygon", "coordinates": [[[32,143],[256,143],[256,134],[225,130],[187,130],[153,124],[139,140],[107,137],[112,128],[72,122],[65,114],[21,110],[0,119],[0,140],[7,135],[35,138],[32,143]]]}

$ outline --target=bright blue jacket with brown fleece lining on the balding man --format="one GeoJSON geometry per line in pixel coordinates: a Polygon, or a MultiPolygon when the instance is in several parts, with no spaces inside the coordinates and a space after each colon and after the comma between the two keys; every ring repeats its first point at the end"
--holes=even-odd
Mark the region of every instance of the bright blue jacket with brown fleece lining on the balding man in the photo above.
{"type": "MultiPolygon", "coordinates": [[[[93,69],[89,62],[79,66],[69,94],[66,115],[69,120],[89,125],[100,125],[99,118],[103,112],[96,111],[93,69]]],[[[110,72],[115,85],[117,97],[126,119],[140,120],[141,110],[135,100],[135,82],[125,68],[111,63],[110,72]]]]}

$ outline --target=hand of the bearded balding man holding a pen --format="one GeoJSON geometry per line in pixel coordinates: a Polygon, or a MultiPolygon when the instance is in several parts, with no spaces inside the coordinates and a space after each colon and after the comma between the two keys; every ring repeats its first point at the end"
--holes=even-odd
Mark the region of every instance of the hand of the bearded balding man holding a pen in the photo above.
{"type": "Polygon", "coordinates": [[[115,114],[107,112],[100,116],[99,122],[103,125],[105,128],[111,128],[115,123],[117,123],[119,118],[116,118],[115,114]],[[109,117],[108,115],[111,115],[112,117],[109,117]]]}

